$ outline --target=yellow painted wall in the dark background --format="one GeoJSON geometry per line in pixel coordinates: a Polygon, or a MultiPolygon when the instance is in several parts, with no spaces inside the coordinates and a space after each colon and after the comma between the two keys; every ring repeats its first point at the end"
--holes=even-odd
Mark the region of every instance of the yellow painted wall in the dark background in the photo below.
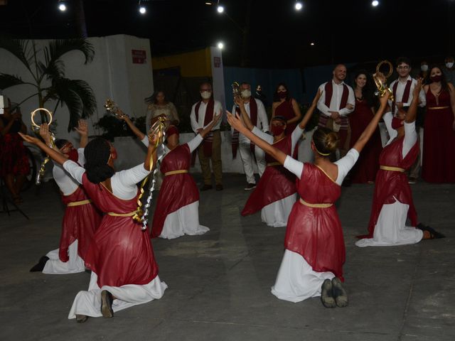
{"type": "Polygon", "coordinates": [[[180,67],[182,77],[212,77],[210,48],[151,58],[154,70],[180,67]]]}

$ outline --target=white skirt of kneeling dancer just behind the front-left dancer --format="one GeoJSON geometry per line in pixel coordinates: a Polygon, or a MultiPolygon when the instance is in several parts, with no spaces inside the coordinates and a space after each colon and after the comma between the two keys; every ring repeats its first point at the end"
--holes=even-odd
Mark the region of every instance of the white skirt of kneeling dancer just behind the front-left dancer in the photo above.
{"type": "Polygon", "coordinates": [[[173,239],[183,234],[204,234],[208,227],[199,224],[199,200],[168,214],[160,238],[173,239]]]}

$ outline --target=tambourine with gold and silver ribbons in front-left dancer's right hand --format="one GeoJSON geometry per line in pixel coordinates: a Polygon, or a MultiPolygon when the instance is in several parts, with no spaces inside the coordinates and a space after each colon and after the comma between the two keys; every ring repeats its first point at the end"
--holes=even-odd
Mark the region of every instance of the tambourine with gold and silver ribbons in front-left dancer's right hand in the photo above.
{"type": "MultiPolygon", "coordinates": [[[[148,136],[150,136],[150,137],[158,136],[158,139],[156,139],[156,142],[155,142],[156,148],[158,148],[159,144],[162,144],[164,141],[164,135],[165,135],[166,129],[168,128],[168,122],[169,121],[168,121],[168,119],[166,119],[166,117],[158,117],[156,122],[154,124],[152,124],[152,126],[149,129],[149,133],[147,134],[148,136]]],[[[163,153],[163,155],[161,155],[161,158],[163,158],[163,157],[164,157],[164,153],[163,153]]],[[[149,171],[151,171],[153,168],[154,168],[154,161],[153,161],[153,156],[151,156],[149,171]]],[[[142,231],[145,231],[147,229],[147,216],[149,215],[149,207],[151,205],[151,199],[152,199],[153,192],[155,189],[155,175],[156,175],[157,171],[158,170],[155,168],[154,173],[151,175],[152,183],[151,183],[151,187],[149,189],[149,196],[147,197],[146,204],[144,205],[144,209],[142,208],[141,198],[144,195],[144,192],[145,192],[144,186],[147,183],[147,181],[149,180],[150,175],[147,175],[146,178],[144,180],[142,180],[141,187],[139,188],[139,197],[137,197],[137,210],[136,210],[136,214],[133,216],[133,219],[136,220],[137,222],[142,223],[142,227],[141,227],[142,231]]]]}

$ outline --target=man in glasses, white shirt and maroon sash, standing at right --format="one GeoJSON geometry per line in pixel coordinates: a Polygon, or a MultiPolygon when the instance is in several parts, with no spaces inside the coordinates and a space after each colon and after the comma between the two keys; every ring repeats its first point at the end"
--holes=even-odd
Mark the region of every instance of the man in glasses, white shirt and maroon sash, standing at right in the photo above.
{"type": "MultiPolygon", "coordinates": [[[[399,107],[409,107],[412,102],[412,92],[414,87],[417,84],[417,80],[414,80],[410,76],[411,73],[411,61],[409,58],[400,57],[397,59],[397,73],[398,79],[390,83],[390,89],[395,102],[389,101],[390,107],[392,107],[392,114],[394,117],[397,116],[399,107]]],[[[425,107],[427,105],[427,97],[425,97],[425,92],[422,89],[419,92],[419,107],[425,107]]],[[[419,126],[416,126],[417,138],[419,138],[419,126]]],[[[413,165],[409,171],[409,182],[415,183],[416,179],[419,177],[420,171],[420,159],[422,156],[420,153],[417,154],[417,159],[414,161],[413,165]]]]}

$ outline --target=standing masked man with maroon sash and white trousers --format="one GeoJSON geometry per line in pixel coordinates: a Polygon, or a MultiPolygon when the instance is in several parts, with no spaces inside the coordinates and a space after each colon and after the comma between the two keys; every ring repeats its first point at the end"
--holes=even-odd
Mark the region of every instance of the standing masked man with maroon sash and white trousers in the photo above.
{"type": "MultiPolygon", "coordinates": [[[[269,131],[269,120],[267,119],[267,112],[265,112],[264,104],[259,99],[251,97],[251,85],[247,82],[240,84],[243,104],[245,110],[250,117],[253,126],[257,126],[259,130],[264,132],[269,131]]],[[[240,114],[240,109],[234,105],[232,112],[240,114]]],[[[242,158],[243,169],[247,177],[247,185],[245,190],[252,190],[256,188],[255,173],[253,171],[253,159],[256,159],[257,170],[259,177],[265,171],[267,163],[265,161],[265,153],[261,148],[255,148],[255,145],[247,139],[244,135],[239,134],[238,131],[232,129],[232,157],[237,156],[237,148],[240,151],[240,158],[242,158]]]]}

